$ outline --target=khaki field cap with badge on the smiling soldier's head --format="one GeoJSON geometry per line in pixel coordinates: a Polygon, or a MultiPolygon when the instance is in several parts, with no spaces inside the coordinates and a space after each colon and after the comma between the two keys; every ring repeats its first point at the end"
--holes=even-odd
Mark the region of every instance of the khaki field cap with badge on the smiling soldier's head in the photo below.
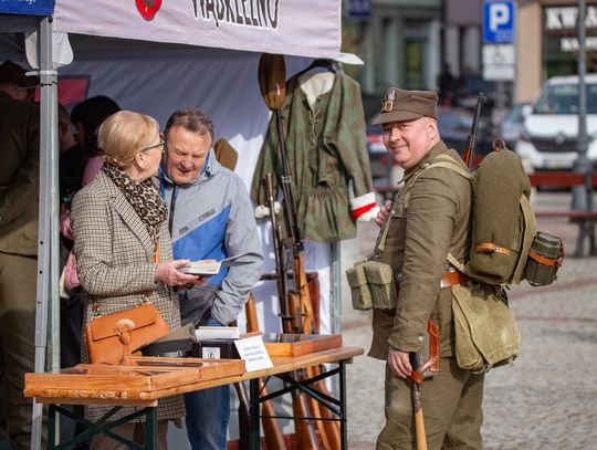
{"type": "Polygon", "coordinates": [[[415,121],[419,117],[438,118],[438,93],[434,91],[405,91],[390,87],[381,102],[381,112],[374,125],[415,121]]]}

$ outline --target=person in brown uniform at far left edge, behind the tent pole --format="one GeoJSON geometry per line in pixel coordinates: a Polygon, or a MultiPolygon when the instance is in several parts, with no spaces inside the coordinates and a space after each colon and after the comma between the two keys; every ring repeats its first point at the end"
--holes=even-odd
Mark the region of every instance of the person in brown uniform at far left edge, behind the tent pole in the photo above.
{"type": "Polygon", "coordinates": [[[0,397],[14,450],[31,446],[33,401],[23,388],[24,374],[35,370],[40,109],[31,101],[38,84],[13,62],[0,65],[0,397]]]}

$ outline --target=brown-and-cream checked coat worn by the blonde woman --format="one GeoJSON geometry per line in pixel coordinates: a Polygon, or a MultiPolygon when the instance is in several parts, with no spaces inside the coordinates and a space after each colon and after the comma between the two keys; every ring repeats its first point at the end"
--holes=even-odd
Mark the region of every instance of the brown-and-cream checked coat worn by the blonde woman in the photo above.
{"type": "MultiPolygon", "coordinates": [[[[161,283],[156,283],[157,264],[151,262],[154,243],[145,224],[118,187],[100,171],[94,181],[73,199],[71,221],[74,253],[81,285],[90,299],[98,303],[102,314],[116,313],[140,304],[144,295],[157,306],[170,328],[180,326],[178,296],[161,283]]],[[[159,259],[172,259],[167,221],[159,237],[159,259]]],[[[84,324],[92,317],[92,303],[85,305],[84,324]]],[[[83,339],[82,360],[87,362],[83,339]]],[[[112,407],[85,407],[85,416],[97,420],[112,407]]],[[[116,417],[130,414],[123,408],[116,417]]],[[[159,401],[158,420],[185,415],[182,397],[159,401]]]]}

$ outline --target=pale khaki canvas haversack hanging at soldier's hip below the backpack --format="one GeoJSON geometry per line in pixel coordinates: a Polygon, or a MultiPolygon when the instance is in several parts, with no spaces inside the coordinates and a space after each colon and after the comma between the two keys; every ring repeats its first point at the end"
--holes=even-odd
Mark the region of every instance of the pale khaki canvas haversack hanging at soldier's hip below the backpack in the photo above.
{"type": "Polygon", "coordinates": [[[455,357],[459,367],[485,373],[519,354],[521,332],[500,286],[452,286],[455,357]]]}

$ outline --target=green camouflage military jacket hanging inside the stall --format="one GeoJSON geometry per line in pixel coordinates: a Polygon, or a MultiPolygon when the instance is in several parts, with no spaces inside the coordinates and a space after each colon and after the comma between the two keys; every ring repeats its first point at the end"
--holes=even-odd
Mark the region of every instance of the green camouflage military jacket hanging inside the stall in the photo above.
{"type": "MultiPolygon", "coordinates": [[[[286,92],[281,116],[300,238],[315,242],[352,239],[356,222],[350,213],[349,187],[355,197],[373,192],[360,87],[338,72],[332,90],[321,94],[313,106],[300,77],[289,80],[286,92]]],[[[282,163],[275,115],[253,175],[251,195],[256,205],[268,203],[266,172],[274,174],[277,191],[282,163]]]]}

